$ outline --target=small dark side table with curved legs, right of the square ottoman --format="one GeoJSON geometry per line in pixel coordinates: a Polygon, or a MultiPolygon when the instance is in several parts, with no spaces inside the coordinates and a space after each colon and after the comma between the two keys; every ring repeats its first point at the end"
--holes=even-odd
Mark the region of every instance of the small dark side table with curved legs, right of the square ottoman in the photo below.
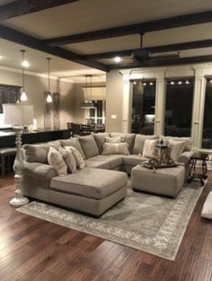
{"type": "Polygon", "coordinates": [[[207,153],[195,153],[190,158],[190,172],[187,180],[190,183],[192,180],[199,179],[201,186],[205,184],[205,180],[208,179],[208,166],[207,161],[209,160],[207,153]],[[201,162],[201,172],[196,172],[197,162],[201,162]]]}

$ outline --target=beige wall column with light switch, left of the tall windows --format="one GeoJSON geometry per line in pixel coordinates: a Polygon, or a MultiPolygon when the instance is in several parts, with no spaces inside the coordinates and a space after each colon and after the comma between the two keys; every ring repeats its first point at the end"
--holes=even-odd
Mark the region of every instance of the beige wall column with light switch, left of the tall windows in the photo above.
{"type": "Polygon", "coordinates": [[[123,84],[119,71],[106,75],[106,131],[122,131],[123,84]],[[116,119],[111,116],[115,115],[116,119]]]}

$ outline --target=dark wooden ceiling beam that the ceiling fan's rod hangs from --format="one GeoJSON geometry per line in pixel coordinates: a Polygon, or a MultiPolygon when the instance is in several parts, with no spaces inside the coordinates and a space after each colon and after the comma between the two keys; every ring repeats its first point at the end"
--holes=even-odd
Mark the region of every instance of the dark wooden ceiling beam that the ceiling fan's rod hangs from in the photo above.
{"type": "Polygon", "coordinates": [[[67,44],[74,44],[79,42],[102,40],[112,37],[126,36],[132,34],[140,34],[141,32],[162,31],[177,27],[189,26],[192,24],[200,24],[212,22],[212,11],[201,13],[190,13],[179,15],[172,18],[165,18],[151,22],[141,22],[137,24],[130,24],[119,26],[115,28],[88,31],[84,33],[72,34],[62,37],[57,37],[49,40],[44,40],[45,43],[51,46],[60,46],[67,44]]]}

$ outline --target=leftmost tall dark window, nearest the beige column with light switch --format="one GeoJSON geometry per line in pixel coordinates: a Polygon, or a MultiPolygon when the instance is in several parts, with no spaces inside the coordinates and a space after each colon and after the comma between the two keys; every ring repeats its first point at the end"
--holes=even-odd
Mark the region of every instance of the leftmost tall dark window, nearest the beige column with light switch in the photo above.
{"type": "Polygon", "coordinates": [[[154,134],[155,81],[137,80],[133,83],[132,133],[154,134]]]}

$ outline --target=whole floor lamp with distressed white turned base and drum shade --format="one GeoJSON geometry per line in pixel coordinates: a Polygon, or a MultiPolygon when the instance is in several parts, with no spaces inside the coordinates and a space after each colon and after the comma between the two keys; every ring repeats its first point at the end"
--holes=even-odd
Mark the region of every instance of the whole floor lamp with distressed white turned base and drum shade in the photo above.
{"type": "Polygon", "coordinates": [[[14,160],[14,180],[15,180],[15,196],[10,201],[12,206],[22,206],[29,202],[28,198],[22,195],[22,130],[23,126],[33,123],[33,106],[22,104],[3,104],[4,124],[11,125],[15,131],[15,144],[17,153],[14,160]]]}

